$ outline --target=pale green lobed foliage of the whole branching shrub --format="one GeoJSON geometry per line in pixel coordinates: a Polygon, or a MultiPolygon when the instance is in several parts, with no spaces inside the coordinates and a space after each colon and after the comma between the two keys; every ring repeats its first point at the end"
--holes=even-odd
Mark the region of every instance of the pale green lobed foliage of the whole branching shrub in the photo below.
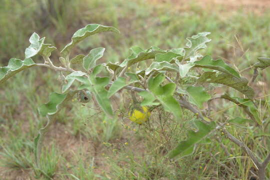
{"type": "MultiPolygon", "coordinates": [[[[204,108],[203,103],[208,101],[211,96],[206,91],[207,88],[199,85],[203,83],[219,83],[230,86],[246,95],[249,99],[232,98],[225,95],[221,96],[221,98],[226,98],[235,103],[240,102],[241,107],[248,112],[252,120],[255,120],[260,125],[262,124],[256,106],[250,101],[254,97],[254,91],[247,85],[247,79],[240,76],[236,70],[222,59],[213,60],[209,55],[203,57],[198,53],[198,50],[206,48],[206,43],[210,41],[207,38],[209,32],[201,32],[187,37],[186,45],[179,48],[164,50],[152,46],[143,50],[139,46],[132,46],[130,48],[131,54],[121,63],[97,63],[96,61],[103,56],[105,50],[103,47],[93,48],[87,55],[78,54],[69,59],[69,53],[77,43],[90,35],[105,31],[119,32],[114,27],[100,24],[88,24],[78,29],[71,37],[71,42],[61,51],[59,61],[64,67],[55,66],[49,59],[50,53],[55,47],[44,44],[44,37],[40,39],[36,33],[33,33],[29,39],[30,46],[25,50],[26,58],[24,60],[11,58],[7,66],[0,67],[0,83],[15,73],[34,65],[68,72],[65,76],[62,75],[61,93],[52,92],[49,95],[48,102],[38,108],[39,113],[48,118],[46,126],[39,129],[38,135],[34,139],[33,150],[38,168],[41,167],[39,161],[40,148],[45,132],[49,125],[52,124],[54,115],[76,93],[78,100],[82,103],[96,100],[104,112],[103,115],[105,115],[106,120],[112,119],[116,110],[112,108],[110,98],[122,88],[138,92],[137,94],[143,97],[140,105],[156,106],[172,113],[174,117],[169,118],[174,118],[177,122],[183,119],[182,107],[192,111],[202,120],[206,118],[210,120],[204,114],[202,115],[201,110],[204,108]],[[36,64],[32,61],[30,57],[36,54],[44,57],[43,64],[36,64]],[[141,68],[141,62],[149,59],[151,59],[151,62],[148,63],[150,65],[141,68]],[[73,66],[79,69],[75,70],[70,67],[72,64],[76,64],[73,66]],[[132,67],[135,65],[136,70],[134,72],[132,67]],[[193,70],[194,68],[204,68],[204,70],[207,68],[211,71],[194,76],[194,73],[196,73],[193,70]],[[194,78],[196,81],[193,80],[194,78]],[[180,83],[181,80],[186,79],[191,79],[190,83],[192,84],[180,83]]],[[[263,69],[269,65],[268,60],[267,58],[260,58],[259,62],[254,66],[263,69]]],[[[134,95],[132,98],[135,98],[134,95]]],[[[247,120],[239,117],[233,118],[229,122],[242,124],[247,120]]],[[[169,157],[189,155],[194,151],[197,143],[209,143],[209,139],[205,139],[205,137],[215,129],[215,123],[213,121],[205,123],[197,119],[194,120],[194,123],[197,126],[197,131],[189,130],[186,140],[180,141],[169,152],[169,157]]],[[[111,134],[112,128],[108,128],[107,131],[108,134],[111,134]]],[[[108,137],[105,137],[105,139],[108,140],[108,137]]]]}

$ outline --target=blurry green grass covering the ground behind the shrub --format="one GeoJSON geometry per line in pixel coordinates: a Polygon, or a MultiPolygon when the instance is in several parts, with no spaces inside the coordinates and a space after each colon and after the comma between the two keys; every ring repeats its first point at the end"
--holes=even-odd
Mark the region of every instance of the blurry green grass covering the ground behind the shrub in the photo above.
{"type": "MultiPolygon", "coordinates": [[[[62,0],[53,3],[54,7],[59,8],[47,9],[53,13],[44,19],[41,4],[37,2],[22,0],[15,1],[14,5],[9,0],[3,1],[0,6],[0,24],[3,27],[0,33],[4,34],[0,40],[2,64],[5,65],[10,57],[23,58],[23,49],[28,46],[26,39],[33,31],[46,36],[46,42],[63,47],[69,42],[71,34],[87,23],[113,25],[121,34],[89,37],[72,54],[85,54],[91,48],[103,46],[106,51],[102,60],[112,62],[128,56],[128,47],[132,45],[143,48],[151,45],[160,48],[180,47],[186,43],[185,37],[201,31],[210,31],[212,39],[202,54],[221,57],[240,71],[254,63],[258,56],[268,55],[269,51],[268,11],[261,15],[241,10],[222,14],[219,7],[209,11],[190,3],[187,9],[177,10],[170,3],[153,5],[142,0],[128,3],[123,0],[70,0],[66,6],[61,6],[62,0]],[[22,8],[24,6],[27,8],[22,8]],[[62,11],[61,8],[67,10],[62,11]],[[12,18],[12,23],[7,17],[12,18]]],[[[53,57],[56,61],[57,54],[53,57]]],[[[38,58],[34,60],[39,61],[38,58]]],[[[76,99],[57,115],[46,137],[47,148],[42,156],[42,168],[36,169],[33,166],[31,141],[37,129],[46,122],[38,115],[37,104],[46,102],[50,92],[59,92],[60,83],[53,71],[32,68],[20,72],[0,86],[0,175],[5,179],[20,176],[21,169],[27,171],[31,178],[80,180],[249,179],[254,176],[250,169],[256,172],[246,154],[219,131],[209,137],[211,143],[198,144],[192,156],[170,161],[165,156],[166,152],[179,140],[185,139],[186,130],[193,127],[194,117],[188,111],[184,110],[184,119],[180,123],[170,120],[170,114],[160,109],[154,111],[150,119],[154,130],[149,130],[126,118],[116,116],[108,120],[93,102],[81,105],[76,99]],[[220,146],[218,139],[225,148],[220,146]],[[17,173],[9,174],[7,171],[10,170],[17,173]]],[[[243,70],[241,74],[251,77],[252,68],[243,70]]],[[[258,81],[269,80],[270,74],[266,70],[258,76],[258,81]]],[[[255,87],[256,91],[258,95],[265,95],[267,84],[261,87],[264,90],[255,87]]],[[[123,100],[128,102],[126,97],[123,100]]],[[[231,105],[231,102],[220,101],[216,109],[231,105]]],[[[125,106],[120,108],[126,109],[125,106]]],[[[260,117],[269,113],[270,107],[267,106],[266,111],[260,110],[260,117]]],[[[246,114],[240,108],[233,107],[215,117],[223,120],[224,117],[229,119],[235,116],[245,118],[246,114]]],[[[241,137],[258,156],[265,157],[265,150],[270,149],[269,138],[256,137],[254,131],[267,133],[270,127],[261,130],[243,126],[229,124],[227,128],[236,137],[241,137]]],[[[267,176],[270,177],[270,166],[267,167],[267,176]]]]}

